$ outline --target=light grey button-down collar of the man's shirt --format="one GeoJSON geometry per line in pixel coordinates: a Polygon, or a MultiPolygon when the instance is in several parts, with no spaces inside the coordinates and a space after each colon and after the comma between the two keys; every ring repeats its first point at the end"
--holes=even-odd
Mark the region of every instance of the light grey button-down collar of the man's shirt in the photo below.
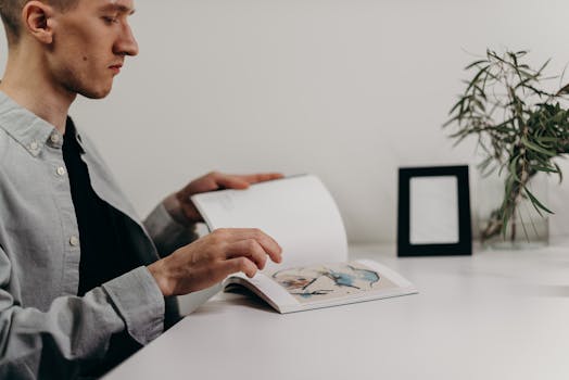
{"type": "MultiPolygon", "coordinates": [[[[69,124],[72,125],[69,131],[73,130],[83,150],[80,136],[73,126],[71,117],[67,117],[66,126],[68,127],[69,124]]],[[[2,91],[0,91],[0,129],[5,130],[34,156],[37,156],[46,145],[61,149],[63,144],[63,136],[53,125],[24,109],[2,91]]]]}

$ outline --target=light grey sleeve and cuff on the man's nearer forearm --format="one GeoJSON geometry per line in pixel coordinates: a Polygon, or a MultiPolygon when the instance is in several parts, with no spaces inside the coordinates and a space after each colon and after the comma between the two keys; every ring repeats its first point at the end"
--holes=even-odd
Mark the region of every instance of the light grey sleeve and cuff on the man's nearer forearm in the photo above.
{"type": "Polygon", "coordinates": [[[146,344],[163,331],[164,299],[146,267],[83,297],[56,297],[47,311],[14,302],[11,263],[0,246],[0,378],[63,379],[97,363],[125,328],[146,344]]]}

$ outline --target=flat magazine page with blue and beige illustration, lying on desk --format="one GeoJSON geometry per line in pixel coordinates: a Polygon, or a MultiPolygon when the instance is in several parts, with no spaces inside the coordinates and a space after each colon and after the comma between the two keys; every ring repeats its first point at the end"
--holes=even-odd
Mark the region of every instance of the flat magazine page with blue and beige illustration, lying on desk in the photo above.
{"type": "Polygon", "coordinates": [[[240,274],[227,283],[240,283],[280,313],[328,307],[416,293],[401,275],[372,261],[311,265],[252,279],[240,274]]]}

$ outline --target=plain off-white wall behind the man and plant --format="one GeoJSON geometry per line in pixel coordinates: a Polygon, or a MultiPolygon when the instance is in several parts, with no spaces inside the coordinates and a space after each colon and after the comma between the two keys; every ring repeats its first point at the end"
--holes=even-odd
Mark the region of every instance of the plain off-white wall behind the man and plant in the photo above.
{"type": "MultiPolygon", "coordinates": [[[[534,64],[553,58],[551,74],[569,62],[567,0],[136,7],[140,55],[108,99],[79,99],[72,115],[140,214],[212,169],[309,172],[331,190],[352,242],[395,240],[397,167],[476,163],[473,141],[453,148],[441,129],[472,54],[529,49],[534,64]]],[[[568,231],[568,186],[551,188],[554,235],[568,231]]]]}

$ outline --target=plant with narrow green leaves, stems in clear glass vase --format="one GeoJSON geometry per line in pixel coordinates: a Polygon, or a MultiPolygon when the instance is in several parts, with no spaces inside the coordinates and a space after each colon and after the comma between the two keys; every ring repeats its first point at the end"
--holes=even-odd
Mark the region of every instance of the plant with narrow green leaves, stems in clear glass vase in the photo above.
{"type": "Polygon", "coordinates": [[[515,242],[520,230],[529,240],[534,226],[524,220],[521,204],[530,204],[541,217],[553,214],[532,190],[532,181],[540,173],[556,174],[560,181],[554,159],[569,152],[569,112],[562,105],[569,85],[543,89],[543,81],[551,79],[544,76],[549,61],[534,69],[523,62],[527,54],[488,50],[466,66],[472,77],[444,124],[455,128],[451,137],[456,143],[469,136],[478,139],[482,177],[497,175],[503,183],[502,199],[480,228],[482,241],[498,237],[515,242]]]}

